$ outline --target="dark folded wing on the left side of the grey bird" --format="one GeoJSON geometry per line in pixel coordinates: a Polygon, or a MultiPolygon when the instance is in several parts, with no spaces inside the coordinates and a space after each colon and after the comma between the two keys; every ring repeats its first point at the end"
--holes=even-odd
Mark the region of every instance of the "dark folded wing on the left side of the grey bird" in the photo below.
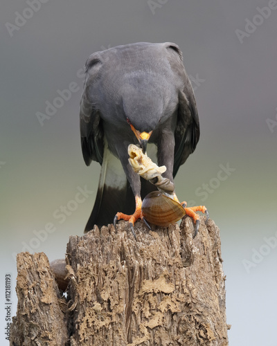
{"type": "Polygon", "coordinates": [[[91,86],[98,78],[98,71],[102,65],[99,53],[93,53],[86,62],[86,78],[84,90],[80,101],[80,132],[82,156],[86,165],[91,161],[98,161],[102,164],[103,160],[103,129],[100,114],[95,107],[91,95],[91,86]]]}

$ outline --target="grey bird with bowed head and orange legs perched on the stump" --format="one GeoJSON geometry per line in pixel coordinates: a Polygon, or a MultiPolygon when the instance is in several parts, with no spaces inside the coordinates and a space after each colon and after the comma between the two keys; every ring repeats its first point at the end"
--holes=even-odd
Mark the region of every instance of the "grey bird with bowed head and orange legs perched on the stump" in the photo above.
{"type": "Polygon", "coordinates": [[[179,46],[136,43],[93,53],[85,65],[80,133],[86,165],[101,165],[94,208],[85,232],[116,219],[141,216],[141,199],[156,190],[128,162],[127,147],[156,150],[164,177],[173,182],[199,140],[193,87],[179,46]],[[135,197],[135,198],[134,198],[135,197]],[[124,214],[123,214],[124,213],[124,214]],[[129,215],[129,217],[127,216],[129,215]]]}

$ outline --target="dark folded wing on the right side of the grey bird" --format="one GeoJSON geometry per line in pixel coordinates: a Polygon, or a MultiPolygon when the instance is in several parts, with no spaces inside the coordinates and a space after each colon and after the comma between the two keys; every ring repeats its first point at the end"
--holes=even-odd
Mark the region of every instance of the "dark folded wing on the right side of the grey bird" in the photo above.
{"type": "Polygon", "coordinates": [[[181,78],[179,90],[179,106],[177,109],[177,127],[175,129],[175,158],[173,176],[177,174],[188,156],[194,152],[199,140],[199,118],[195,102],[193,86],[190,83],[183,65],[181,50],[177,44],[166,43],[168,61],[176,78],[181,78]]]}

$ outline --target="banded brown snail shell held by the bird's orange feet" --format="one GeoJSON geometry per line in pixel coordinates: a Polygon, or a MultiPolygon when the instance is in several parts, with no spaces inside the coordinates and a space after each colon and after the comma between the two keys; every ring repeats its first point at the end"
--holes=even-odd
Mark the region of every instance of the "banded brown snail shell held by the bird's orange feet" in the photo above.
{"type": "Polygon", "coordinates": [[[174,224],[186,215],[180,203],[159,191],[150,192],[145,196],[141,210],[146,221],[163,227],[174,224]]]}

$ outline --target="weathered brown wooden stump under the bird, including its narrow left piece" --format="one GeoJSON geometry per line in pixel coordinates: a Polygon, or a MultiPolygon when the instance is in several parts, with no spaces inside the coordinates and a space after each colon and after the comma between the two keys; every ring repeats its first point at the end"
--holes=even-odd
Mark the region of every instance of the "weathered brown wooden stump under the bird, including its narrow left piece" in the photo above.
{"type": "Polygon", "coordinates": [[[189,217],[180,228],[152,231],[137,221],[135,232],[137,242],[120,221],[117,232],[111,225],[95,226],[87,235],[71,236],[63,300],[46,256],[20,254],[10,345],[228,345],[220,231],[214,222],[206,225],[202,217],[195,239],[189,217]],[[36,286],[42,280],[49,282],[45,290],[30,291],[30,281],[36,286]]]}

